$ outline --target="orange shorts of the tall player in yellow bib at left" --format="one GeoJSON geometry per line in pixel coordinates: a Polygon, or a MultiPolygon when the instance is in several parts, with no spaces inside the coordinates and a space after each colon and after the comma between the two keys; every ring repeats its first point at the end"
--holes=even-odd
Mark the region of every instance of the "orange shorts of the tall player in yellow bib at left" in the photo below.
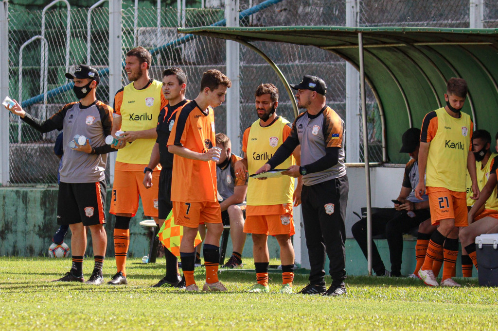
{"type": "MultiPolygon", "coordinates": [[[[145,165],[143,166],[145,167],[145,165]]],[[[115,169],[111,214],[131,214],[138,210],[138,196],[142,199],[143,213],[149,217],[158,216],[159,172],[152,172],[152,187],[143,186],[142,171],[122,171],[115,169]]]]}

